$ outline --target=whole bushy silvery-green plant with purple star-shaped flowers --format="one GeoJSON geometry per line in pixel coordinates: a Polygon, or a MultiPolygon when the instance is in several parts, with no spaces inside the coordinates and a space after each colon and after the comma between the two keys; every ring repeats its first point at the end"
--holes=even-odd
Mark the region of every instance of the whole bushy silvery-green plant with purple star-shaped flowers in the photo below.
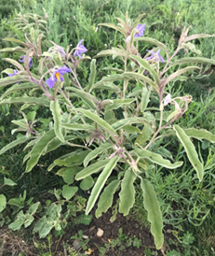
{"type": "MultiPolygon", "coordinates": [[[[47,170],[58,170],[57,175],[65,180],[68,176],[83,180],[87,184],[87,190],[92,189],[87,201],[86,214],[99,199],[97,218],[113,205],[116,192],[119,200],[116,201],[115,208],[124,216],[128,215],[135,202],[134,182],[137,180],[143,194],[143,206],[151,222],[155,247],[161,249],[164,243],[162,214],[147,173],[156,164],[167,169],[176,169],[183,163],[173,163],[166,159],[162,152],[155,153],[157,140],[169,135],[178,137],[199,181],[203,179],[204,163],[199,160],[191,138],[215,142],[215,135],[206,130],[186,129],[174,124],[174,121],[186,112],[192,96],[173,97],[167,92],[167,84],[173,79],[180,79],[182,74],[198,70],[199,63],[215,64],[215,61],[202,57],[182,57],[175,60],[174,57],[179,51],[186,48],[186,42],[209,35],[187,36],[188,29],[184,28],[177,48],[170,52],[165,44],[155,38],[144,36],[145,24],[140,23],[142,17],[143,15],[140,15],[131,23],[127,13],[125,21],[117,19],[118,25],[99,24],[121,33],[125,37],[125,45],[102,50],[91,60],[90,74],[85,87],[81,85],[76,72],[81,62],[90,59],[81,55],[87,51],[82,45],[83,39],[72,50],[71,46],[63,50],[51,42],[53,46],[42,51],[41,35],[37,38],[36,47],[31,43],[33,38],[25,36],[27,42],[20,42],[21,51],[25,52],[26,60],[34,57],[34,63],[37,61],[38,68],[33,67],[33,71],[30,71],[27,62],[23,67],[15,60],[7,58],[5,61],[14,64],[19,75],[0,79],[0,86],[21,82],[19,87],[13,86],[12,92],[16,91],[17,86],[19,91],[37,91],[37,96],[29,92],[28,96],[10,98],[9,88],[1,96],[0,104],[17,103],[25,104],[25,107],[26,104],[29,107],[47,107],[51,110],[52,121],[46,129],[37,125],[34,120],[31,121],[34,125],[31,125],[25,113],[20,111],[25,122],[22,121],[22,124],[17,121],[18,129],[14,132],[22,131],[25,135],[19,136],[17,140],[1,149],[0,154],[19,144],[27,143],[25,149],[31,149],[24,158],[24,162],[27,161],[25,172],[28,173],[36,166],[41,155],[59,150],[65,145],[71,146],[71,151],[56,159],[47,170]],[[139,41],[151,43],[155,48],[141,56],[139,41]],[[105,56],[119,58],[124,64],[124,70],[97,80],[96,59],[105,56]],[[187,64],[194,65],[186,66],[187,64]],[[179,65],[183,67],[180,69],[179,65]],[[169,72],[170,67],[172,73],[169,72]],[[122,83],[116,86],[114,81],[122,83]],[[101,98],[102,90],[113,92],[112,97],[101,98]],[[153,112],[149,107],[151,98],[154,98],[154,101],[156,99],[153,112]],[[167,117],[164,115],[165,108],[170,108],[167,117]]],[[[2,51],[10,52],[14,49],[2,51]]],[[[7,71],[5,70],[5,73],[8,73],[7,71]]],[[[9,72],[11,74],[11,70],[9,72]]],[[[67,182],[66,191],[74,194],[77,191],[77,187],[72,186],[74,181],[67,182]]],[[[111,220],[114,220],[114,216],[111,220]]]]}

